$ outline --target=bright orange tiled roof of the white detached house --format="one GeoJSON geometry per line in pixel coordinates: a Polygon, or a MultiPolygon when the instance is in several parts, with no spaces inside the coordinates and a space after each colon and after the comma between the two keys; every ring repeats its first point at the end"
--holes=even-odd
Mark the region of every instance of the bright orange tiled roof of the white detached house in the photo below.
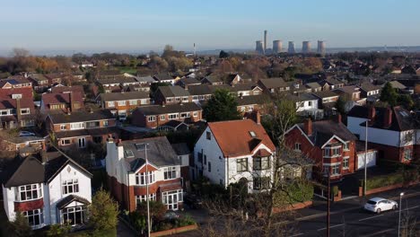
{"type": "Polygon", "coordinates": [[[212,122],[207,124],[224,157],[252,154],[259,145],[266,145],[273,153],[276,146],[266,130],[251,119],[212,122]],[[255,134],[253,137],[251,132],[255,134]]]}

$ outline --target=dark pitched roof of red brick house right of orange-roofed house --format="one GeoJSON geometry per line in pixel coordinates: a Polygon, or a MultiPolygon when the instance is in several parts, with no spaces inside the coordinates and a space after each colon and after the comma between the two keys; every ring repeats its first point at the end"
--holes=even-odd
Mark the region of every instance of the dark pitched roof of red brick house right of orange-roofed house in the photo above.
{"type": "MultiPolygon", "coordinates": [[[[303,123],[298,124],[298,126],[301,127],[302,131],[305,133],[303,123]]],[[[309,136],[309,138],[314,145],[319,147],[325,145],[332,136],[338,136],[344,141],[357,140],[357,137],[354,136],[343,123],[337,123],[332,120],[312,122],[312,135],[309,136]]]]}

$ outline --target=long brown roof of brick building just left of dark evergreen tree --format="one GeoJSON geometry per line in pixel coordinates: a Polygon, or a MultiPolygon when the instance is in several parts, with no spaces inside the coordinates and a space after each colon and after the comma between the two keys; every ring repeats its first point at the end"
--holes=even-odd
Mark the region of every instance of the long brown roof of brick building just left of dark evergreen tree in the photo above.
{"type": "Polygon", "coordinates": [[[182,104],[167,104],[167,105],[150,105],[150,106],[140,106],[136,110],[139,110],[144,115],[160,115],[168,113],[179,113],[179,112],[190,112],[202,110],[194,102],[182,103],[182,104]]]}

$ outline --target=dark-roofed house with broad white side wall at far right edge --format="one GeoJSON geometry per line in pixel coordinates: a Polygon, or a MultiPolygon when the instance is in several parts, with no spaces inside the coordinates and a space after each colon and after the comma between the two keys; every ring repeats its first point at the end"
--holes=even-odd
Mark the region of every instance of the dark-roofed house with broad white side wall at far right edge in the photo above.
{"type": "Polygon", "coordinates": [[[361,141],[367,129],[369,145],[378,150],[379,159],[410,162],[420,154],[419,123],[402,107],[354,106],[347,115],[347,127],[361,141]]]}

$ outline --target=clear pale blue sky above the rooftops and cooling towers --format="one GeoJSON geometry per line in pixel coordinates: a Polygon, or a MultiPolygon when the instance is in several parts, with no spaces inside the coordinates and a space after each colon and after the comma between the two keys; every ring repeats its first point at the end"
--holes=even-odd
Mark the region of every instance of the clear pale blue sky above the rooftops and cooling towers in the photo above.
{"type": "Polygon", "coordinates": [[[0,50],[420,45],[419,0],[0,0],[0,50]]]}

